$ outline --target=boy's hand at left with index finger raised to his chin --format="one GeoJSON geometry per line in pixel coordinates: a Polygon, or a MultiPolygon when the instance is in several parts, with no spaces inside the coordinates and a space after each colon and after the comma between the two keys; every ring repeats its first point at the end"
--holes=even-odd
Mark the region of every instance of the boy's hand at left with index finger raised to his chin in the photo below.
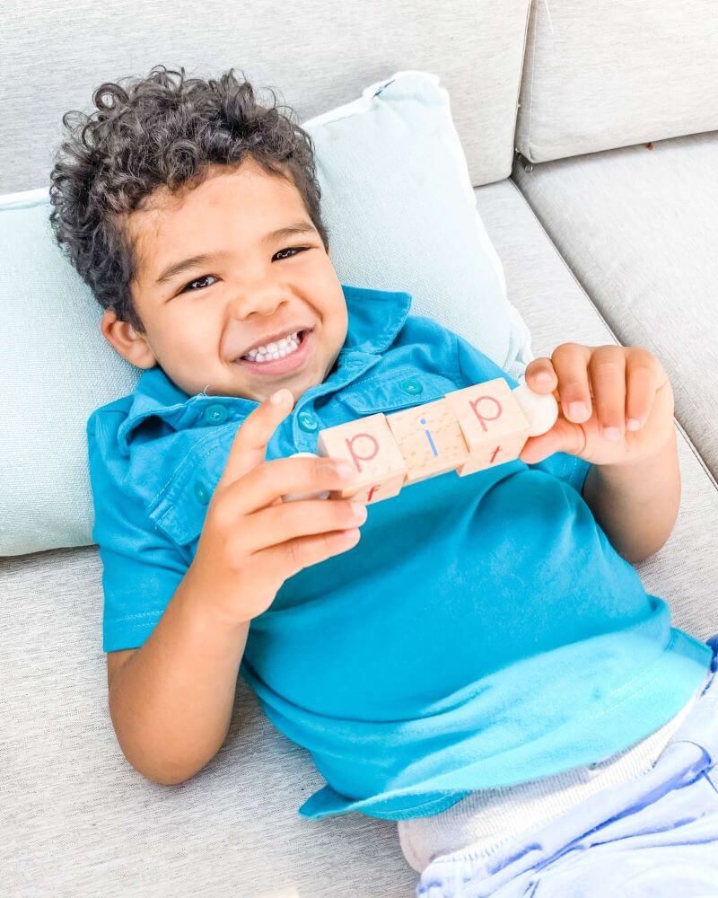
{"type": "Polygon", "coordinates": [[[244,420],[207,507],[188,577],[207,609],[230,626],[266,611],[288,577],[351,549],[366,520],[336,491],[351,479],[330,458],[266,461],[267,443],[293,409],[293,395],[269,399],[244,420]],[[328,499],[285,502],[291,493],[330,490],[328,499]],[[335,491],[335,492],[332,492],[335,491]]]}

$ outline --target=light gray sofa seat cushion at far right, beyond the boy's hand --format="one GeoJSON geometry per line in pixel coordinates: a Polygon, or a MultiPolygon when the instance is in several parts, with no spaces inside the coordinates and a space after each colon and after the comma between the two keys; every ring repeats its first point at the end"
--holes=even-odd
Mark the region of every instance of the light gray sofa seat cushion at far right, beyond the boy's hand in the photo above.
{"type": "Polygon", "coordinates": [[[620,342],[661,359],[714,477],[717,168],[713,131],[533,166],[517,157],[512,175],[620,342]]]}

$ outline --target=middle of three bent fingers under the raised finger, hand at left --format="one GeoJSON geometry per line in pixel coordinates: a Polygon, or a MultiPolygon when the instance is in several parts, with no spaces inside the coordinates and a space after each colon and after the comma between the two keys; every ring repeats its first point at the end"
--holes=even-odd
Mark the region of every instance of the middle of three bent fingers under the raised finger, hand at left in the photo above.
{"type": "Polygon", "coordinates": [[[363,502],[354,503],[348,498],[300,499],[260,508],[252,515],[250,527],[238,528],[234,533],[241,540],[241,554],[251,555],[302,536],[354,530],[367,516],[363,502]]]}

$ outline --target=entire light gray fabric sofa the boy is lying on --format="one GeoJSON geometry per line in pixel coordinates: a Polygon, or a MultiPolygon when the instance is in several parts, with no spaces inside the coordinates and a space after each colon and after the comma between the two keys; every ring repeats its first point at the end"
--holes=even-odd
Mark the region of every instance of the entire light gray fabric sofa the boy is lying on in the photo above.
{"type": "MultiPolygon", "coordinates": [[[[241,66],[278,86],[300,120],[399,69],[439,75],[535,355],[566,340],[639,345],[670,375],[679,519],[635,568],[677,626],[702,639],[718,631],[713,0],[10,0],[6,10],[2,193],[48,182],[65,110],[158,62],[241,66]]],[[[4,379],[22,391],[12,371],[4,379]]],[[[296,813],[323,780],[243,680],[226,742],[197,777],[162,787],[129,766],[107,709],[96,546],[0,559],[0,594],[0,893],[414,894],[396,823],[296,813]]]]}

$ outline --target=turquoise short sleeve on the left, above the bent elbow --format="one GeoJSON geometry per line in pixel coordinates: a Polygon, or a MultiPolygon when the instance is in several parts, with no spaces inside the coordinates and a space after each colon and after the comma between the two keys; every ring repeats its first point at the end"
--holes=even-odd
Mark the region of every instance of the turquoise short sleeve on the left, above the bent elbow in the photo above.
{"type": "Polygon", "coordinates": [[[143,645],[185,576],[177,546],[153,524],[126,482],[128,459],[112,452],[109,427],[87,427],[94,525],[102,561],[102,651],[143,645]],[[104,432],[103,432],[104,431],[104,432]]]}

